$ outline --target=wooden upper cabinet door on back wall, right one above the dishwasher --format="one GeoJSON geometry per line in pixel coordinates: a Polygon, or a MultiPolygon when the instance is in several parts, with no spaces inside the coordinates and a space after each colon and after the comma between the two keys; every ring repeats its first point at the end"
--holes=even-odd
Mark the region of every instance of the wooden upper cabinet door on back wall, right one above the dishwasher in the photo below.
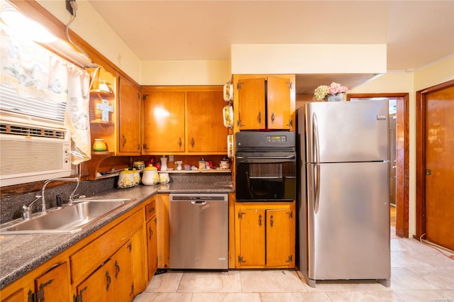
{"type": "Polygon", "coordinates": [[[227,152],[223,91],[187,92],[188,152],[227,152]]]}

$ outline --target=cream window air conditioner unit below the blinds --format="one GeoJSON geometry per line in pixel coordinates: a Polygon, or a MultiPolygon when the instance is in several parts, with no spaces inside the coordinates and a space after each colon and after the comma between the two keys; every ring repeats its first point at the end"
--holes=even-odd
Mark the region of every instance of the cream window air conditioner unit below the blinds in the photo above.
{"type": "Polygon", "coordinates": [[[52,123],[0,121],[0,186],[24,184],[71,174],[67,130],[52,123]]]}

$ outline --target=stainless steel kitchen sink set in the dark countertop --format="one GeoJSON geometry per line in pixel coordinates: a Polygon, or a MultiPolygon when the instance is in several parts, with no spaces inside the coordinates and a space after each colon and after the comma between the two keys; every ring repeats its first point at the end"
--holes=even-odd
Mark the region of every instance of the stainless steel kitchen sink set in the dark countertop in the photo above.
{"type": "Polygon", "coordinates": [[[16,219],[0,225],[3,234],[77,233],[90,223],[106,216],[134,199],[84,199],[60,209],[52,208],[45,215],[33,215],[30,220],[16,219]]]}

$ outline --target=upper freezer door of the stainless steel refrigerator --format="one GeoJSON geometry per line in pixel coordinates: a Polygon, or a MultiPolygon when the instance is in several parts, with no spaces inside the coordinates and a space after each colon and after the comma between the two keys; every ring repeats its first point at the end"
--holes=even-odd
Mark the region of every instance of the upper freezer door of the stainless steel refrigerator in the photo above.
{"type": "Polygon", "coordinates": [[[388,160],[388,101],[306,104],[306,162],[388,160]]]}

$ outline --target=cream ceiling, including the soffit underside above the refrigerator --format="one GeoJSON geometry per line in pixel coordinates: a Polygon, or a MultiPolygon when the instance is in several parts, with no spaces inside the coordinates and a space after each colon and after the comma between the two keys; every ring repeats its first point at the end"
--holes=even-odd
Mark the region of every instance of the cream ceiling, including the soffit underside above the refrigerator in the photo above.
{"type": "MultiPolygon", "coordinates": [[[[454,54],[454,1],[88,0],[139,60],[230,60],[232,44],[387,44],[388,72],[454,54]]],[[[297,93],[374,74],[299,74],[297,93]]]]}

